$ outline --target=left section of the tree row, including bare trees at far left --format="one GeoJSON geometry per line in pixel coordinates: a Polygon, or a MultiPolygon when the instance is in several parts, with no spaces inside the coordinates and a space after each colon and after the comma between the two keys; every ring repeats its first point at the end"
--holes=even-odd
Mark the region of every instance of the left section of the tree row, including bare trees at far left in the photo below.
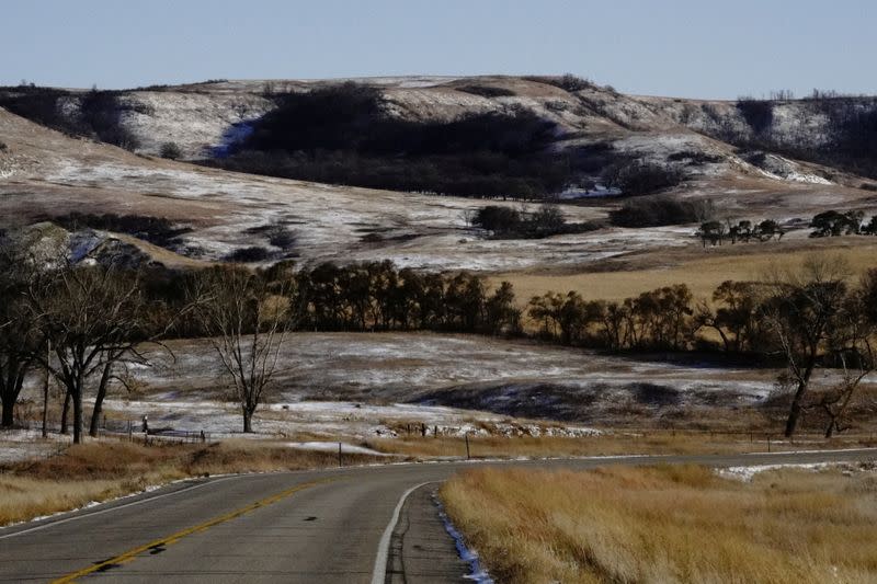
{"type": "MultiPolygon", "coordinates": [[[[133,270],[122,262],[75,265],[32,247],[0,245],[0,401],[2,426],[30,374],[64,390],[61,431],[73,442],[98,432],[103,401],[144,347],[171,336],[209,340],[240,405],[244,432],[274,379],[293,330],[448,330],[516,333],[521,311],[510,284],[494,291],[465,273],[421,274],[390,262],[331,263],[296,271],[292,263],[251,271],[217,266],[194,273],[133,270]]],[[[45,427],[44,414],[44,427],[45,427]]]]}

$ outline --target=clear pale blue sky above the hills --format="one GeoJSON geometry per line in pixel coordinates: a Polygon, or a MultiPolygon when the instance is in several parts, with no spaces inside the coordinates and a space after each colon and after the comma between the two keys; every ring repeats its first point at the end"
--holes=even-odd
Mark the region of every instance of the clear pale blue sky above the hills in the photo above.
{"type": "Polygon", "coordinates": [[[571,72],[635,94],[877,93],[874,0],[3,0],[0,84],[571,72]]]}

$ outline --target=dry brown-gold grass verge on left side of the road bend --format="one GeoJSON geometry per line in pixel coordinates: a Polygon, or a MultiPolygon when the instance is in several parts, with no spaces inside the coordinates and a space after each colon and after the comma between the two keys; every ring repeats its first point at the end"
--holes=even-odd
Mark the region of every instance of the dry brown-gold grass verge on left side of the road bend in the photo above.
{"type": "MultiPolygon", "coordinates": [[[[348,465],[379,460],[344,454],[348,465]]],[[[173,480],[236,472],[333,467],[333,453],[228,440],[206,445],[107,439],[70,446],[58,456],[0,467],[0,526],[92,502],[104,502],[173,480]]]]}

